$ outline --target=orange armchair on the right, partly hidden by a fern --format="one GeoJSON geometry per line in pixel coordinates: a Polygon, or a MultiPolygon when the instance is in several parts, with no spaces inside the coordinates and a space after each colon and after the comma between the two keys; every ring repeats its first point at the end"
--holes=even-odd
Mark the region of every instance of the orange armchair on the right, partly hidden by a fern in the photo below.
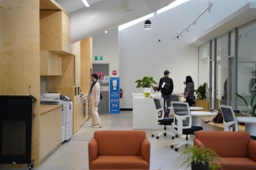
{"type": "Polygon", "coordinates": [[[256,141],[246,131],[200,131],[194,146],[212,148],[226,163],[218,161],[225,170],[255,170],[256,141]]]}

